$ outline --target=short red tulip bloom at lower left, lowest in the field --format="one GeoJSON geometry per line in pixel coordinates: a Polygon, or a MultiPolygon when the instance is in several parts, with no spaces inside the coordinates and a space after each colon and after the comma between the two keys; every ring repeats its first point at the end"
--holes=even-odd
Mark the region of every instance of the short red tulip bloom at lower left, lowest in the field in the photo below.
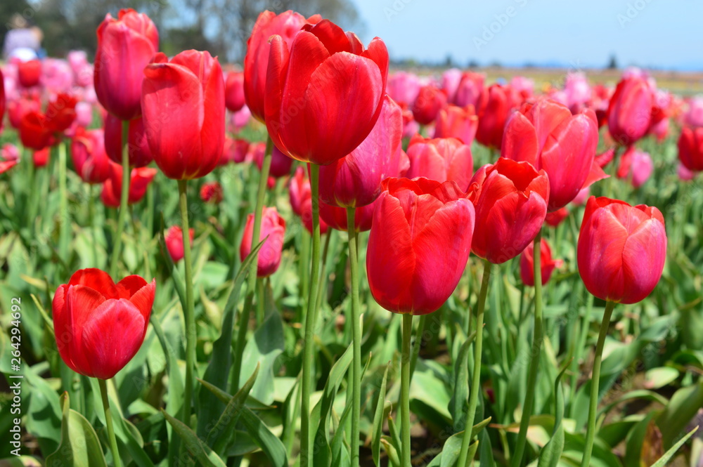
{"type": "Polygon", "coordinates": [[[110,379],[136,355],[146,336],[156,281],[131,275],[112,282],[107,272],[82,269],[56,289],[56,346],[70,369],[110,379]]]}

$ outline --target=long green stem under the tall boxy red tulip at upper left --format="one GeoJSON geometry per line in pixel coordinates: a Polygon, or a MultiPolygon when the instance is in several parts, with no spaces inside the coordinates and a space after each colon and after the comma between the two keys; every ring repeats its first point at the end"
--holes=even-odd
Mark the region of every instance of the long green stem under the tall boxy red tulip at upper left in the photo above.
{"type": "MultiPolygon", "coordinates": [[[[193,404],[193,373],[195,371],[195,299],[193,298],[193,265],[191,263],[191,234],[188,227],[188,180],[178,180],[181,230],[183,231],[183,265],[186,268],[186,388],[183,391],[183,416],[181,421],[191,426],[193,404]]],[[[185,445],[181,447],[184,449],[185,445]]]]}

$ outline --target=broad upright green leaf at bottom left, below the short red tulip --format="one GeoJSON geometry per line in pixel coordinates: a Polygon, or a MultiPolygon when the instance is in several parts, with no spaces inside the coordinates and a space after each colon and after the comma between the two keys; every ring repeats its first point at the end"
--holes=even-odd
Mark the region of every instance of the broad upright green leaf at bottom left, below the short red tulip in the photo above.
{"type": "Polygon", "coordinates": [[[98,435],[84,416],[70,409],[68,394],[61,398],[61,442],[46,458],[46,467],[107,467],[98,435]]]}

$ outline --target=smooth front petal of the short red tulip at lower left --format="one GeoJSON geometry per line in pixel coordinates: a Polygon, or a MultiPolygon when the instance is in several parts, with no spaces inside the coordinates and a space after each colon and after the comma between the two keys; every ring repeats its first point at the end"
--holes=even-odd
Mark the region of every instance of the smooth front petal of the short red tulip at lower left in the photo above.
{"type": "Polygon", "coordinates": [[[82,332],[82,353],[92,376],[110,379],[124,368],[141,347],[145,328],[141,312],[124,298],[96,308],[82,332]]]}

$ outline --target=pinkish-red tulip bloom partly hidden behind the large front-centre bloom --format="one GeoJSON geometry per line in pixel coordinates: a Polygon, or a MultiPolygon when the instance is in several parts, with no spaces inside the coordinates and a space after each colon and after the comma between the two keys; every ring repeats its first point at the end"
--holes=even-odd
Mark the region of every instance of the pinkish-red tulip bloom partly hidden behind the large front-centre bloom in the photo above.
{"type": "Polygon", "coordinates": [[[425,139],[413,136],[408,145],[410,169],[406,177],[456,182],[464,192],[474,171],[471,148],[456,138],[425,139]]]}

